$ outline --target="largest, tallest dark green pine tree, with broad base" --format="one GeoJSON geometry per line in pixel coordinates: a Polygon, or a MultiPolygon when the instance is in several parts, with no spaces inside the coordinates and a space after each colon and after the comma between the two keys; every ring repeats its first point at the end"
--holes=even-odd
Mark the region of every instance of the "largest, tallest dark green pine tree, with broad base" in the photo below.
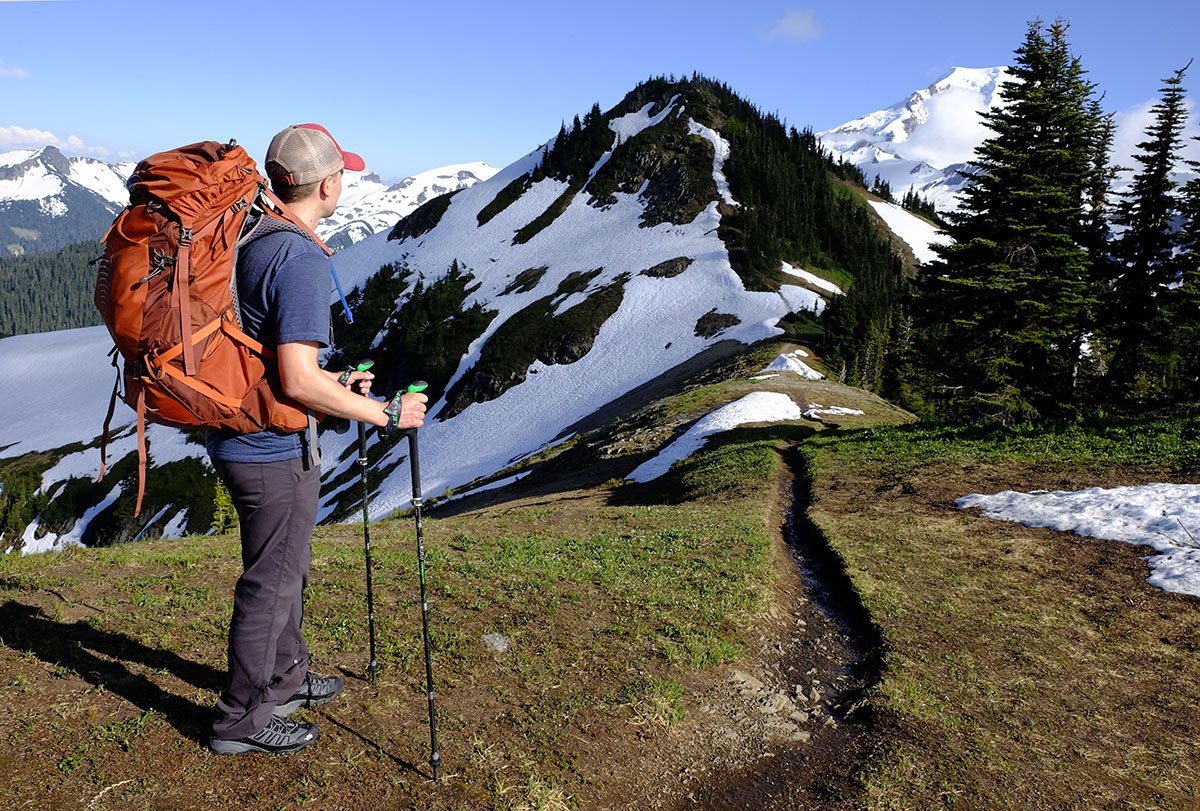
{"type": "Polygon", "coordinates": [[[954,241],[926,281],[923,343],[947,416],[1009,423],[1069,413],[1076,398],[1094,305],[1086,200],[1104,130],[1067,28],[1030,23],[947,215],[954,241]]]}

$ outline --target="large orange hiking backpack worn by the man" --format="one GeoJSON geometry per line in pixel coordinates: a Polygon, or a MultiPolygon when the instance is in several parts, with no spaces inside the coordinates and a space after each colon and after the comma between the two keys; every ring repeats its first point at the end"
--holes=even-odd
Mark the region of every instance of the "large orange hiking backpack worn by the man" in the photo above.
{"type": "Polygon", "coordinates": [[[308,425],[305,408],[283,394],[275,352],[241,330],[234,268],[239,244],[270,230],[302,233],[332,252],[234,142],[152,155],[127,186],[130,205],[104,235],[96,275],[96,308],[125,361],[104,419],[100,476],[120,395],[137,411],[138,515],[146,420],[238,433],[308,425]]]}

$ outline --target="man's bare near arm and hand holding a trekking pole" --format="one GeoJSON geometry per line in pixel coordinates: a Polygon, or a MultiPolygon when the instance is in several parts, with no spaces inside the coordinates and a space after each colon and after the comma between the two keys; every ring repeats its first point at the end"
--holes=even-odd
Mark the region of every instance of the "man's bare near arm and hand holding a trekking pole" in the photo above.
{"type": "MultiPolygon", "coordinates": [[[[383,413],[386,403],[356,395],[320,368],[317,361],[316,342],[295,341],[276,347],[280,361],[280,382],[283,394],[306,408],[331,416],[341,416],[368,425],[388,423],[383,413]]],[[[428,398],[422,394],[406,394],[401,397],[403,411],[398,428],[419,428],[425,422],[425,403],[428,398]]]]}

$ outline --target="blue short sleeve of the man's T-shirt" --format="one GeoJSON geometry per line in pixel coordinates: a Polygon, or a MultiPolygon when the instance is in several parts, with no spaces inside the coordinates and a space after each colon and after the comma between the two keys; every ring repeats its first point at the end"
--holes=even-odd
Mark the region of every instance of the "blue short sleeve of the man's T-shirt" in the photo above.
{"type": "Polygon", "coordinates": [[[289,257],[275,269],[269,296],[276,343],[312,341],[329,346],[329,258],[316,251],[289,257]]]}

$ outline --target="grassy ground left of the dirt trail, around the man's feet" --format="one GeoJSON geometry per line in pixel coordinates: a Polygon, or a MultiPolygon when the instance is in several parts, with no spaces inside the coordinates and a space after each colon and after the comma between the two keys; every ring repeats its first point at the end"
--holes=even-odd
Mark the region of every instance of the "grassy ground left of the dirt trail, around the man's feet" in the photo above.
{"type": "MultiPolygon", "coordinates": [[[[720,395],[665,409],[703,413],[720,395]]],[[[361,533],[318,530],[306,633],[344,701],[304,757],[203,746],[239,572],[229,536],[0,558],[0,805],[563,807],[622,780],[742,655],[770,591],[778,432],[697,455],[673,495],[616,482],[426,522],[446,771],[427,726],[410,519],[372,530],[384,673],[366,665],[361,533]],[[625,506],[611,504],[613,489],[625,506]],[[631,494],[632,493],[632,494],[631,494]],[[509,637],[496,654],[488,632],[509,637]]]]}

